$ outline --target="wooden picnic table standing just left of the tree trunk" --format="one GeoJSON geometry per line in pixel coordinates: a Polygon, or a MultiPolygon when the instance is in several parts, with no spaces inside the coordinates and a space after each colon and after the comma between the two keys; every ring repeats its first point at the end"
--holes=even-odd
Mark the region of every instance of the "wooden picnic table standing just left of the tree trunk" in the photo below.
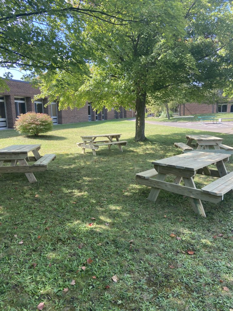
{"type": "Polygon", "coordinates": [[[99,146],[108,146],[108,149],[112,145],[117,145],[119,150],[123,152],[121,146],[127,145],[127,141],[120,141],[121,134],[101,134],[101,135],[89,135],[81,136],[83,142],[77,142],[77,146],[82,148],[82,153],[85,153],[85,149],[91,149],[94,156],[96,156],[96,150],[99,146]],[[105,140],[98,140],[98,137],[106,137],[105,140]],[[115,141],[113,141],[115,139],[115,141]]]}

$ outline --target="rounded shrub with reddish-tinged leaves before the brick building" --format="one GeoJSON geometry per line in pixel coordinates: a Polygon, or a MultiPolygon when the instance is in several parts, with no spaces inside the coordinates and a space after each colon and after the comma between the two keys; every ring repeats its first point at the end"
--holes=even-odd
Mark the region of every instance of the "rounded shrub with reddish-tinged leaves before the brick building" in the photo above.
{"type": "Polygon", "coordinates": [[[15,122],[16,131],[24,135],[38,136],[47,133],[53,128],[53,121],[48,114],[28,112],[21,114],[15,122]]]}

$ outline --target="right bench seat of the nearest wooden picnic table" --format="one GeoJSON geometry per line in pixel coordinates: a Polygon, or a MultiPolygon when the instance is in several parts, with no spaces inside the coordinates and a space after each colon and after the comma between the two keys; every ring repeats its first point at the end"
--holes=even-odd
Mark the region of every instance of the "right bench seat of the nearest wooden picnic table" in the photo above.
{"type": "Polygon", "coordinates": [[[203,187],[203,193],[211,193],[216,196],[222,196],[233,188],[233,172],[215,180],[203,187]]]}

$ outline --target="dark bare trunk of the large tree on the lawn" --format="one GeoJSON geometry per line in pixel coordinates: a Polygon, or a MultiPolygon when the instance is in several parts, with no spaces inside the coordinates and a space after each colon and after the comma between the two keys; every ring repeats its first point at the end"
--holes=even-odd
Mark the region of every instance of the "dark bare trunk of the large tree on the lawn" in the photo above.
{"type": "Polygon", "coordinates": [[[145,107],[146,107],[146,93],[138,94],[136,98],[136,131],[135,142],[143,142],[145,137],[145,107]]]}

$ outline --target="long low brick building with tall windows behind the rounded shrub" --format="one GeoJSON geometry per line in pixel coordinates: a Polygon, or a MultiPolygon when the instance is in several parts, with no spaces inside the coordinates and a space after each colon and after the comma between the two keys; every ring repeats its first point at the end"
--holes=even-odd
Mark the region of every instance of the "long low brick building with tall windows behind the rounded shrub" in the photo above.
{"type": "Polygon", "coordinates": [[[7,81],[7,85],[10,87],[10,91],[0,92],[0,129],[13,128],[17,116],[29,111],[50,115],[54,124],[101,121],[135,116],[133,109],[126,110],[123,107],[119,107],[119,109],[113,107],[111,110],[103,108],[102,111],[95,111],[92,109],[91,103],[86,103],[80,109],[58,110],[58,103],[54,101],[45,107],[48,99],[43,98],[34,101],[34,95],[39,94],[40,91],[38,88],[34,88],[30,82],[12,79],[7,81]]]}

